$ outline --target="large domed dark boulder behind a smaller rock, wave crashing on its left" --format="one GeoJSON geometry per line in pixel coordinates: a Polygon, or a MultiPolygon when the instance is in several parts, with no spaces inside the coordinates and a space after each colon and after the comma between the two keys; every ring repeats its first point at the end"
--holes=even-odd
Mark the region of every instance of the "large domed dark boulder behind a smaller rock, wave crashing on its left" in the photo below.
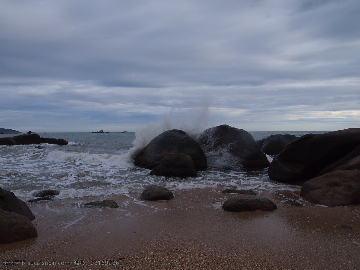
{"type": "Polygon", "coordinates": [[[141,168],[153,169],[160,165],[166,155],[184,153],[189,155],[195,169],[206,169],[206,157],[200,145],[185,131],[173,129],[156,136],[135,158],[135,165],[141,168]]]}

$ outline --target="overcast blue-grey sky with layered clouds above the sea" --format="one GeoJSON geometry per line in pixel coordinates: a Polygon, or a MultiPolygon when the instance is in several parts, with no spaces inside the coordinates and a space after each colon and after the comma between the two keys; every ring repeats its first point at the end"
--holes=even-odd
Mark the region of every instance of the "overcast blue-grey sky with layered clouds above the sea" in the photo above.
{"type": "Polygon", "coordinates": [[[0,4],[0,127],[360,127],[359,0],[0,4]]]}

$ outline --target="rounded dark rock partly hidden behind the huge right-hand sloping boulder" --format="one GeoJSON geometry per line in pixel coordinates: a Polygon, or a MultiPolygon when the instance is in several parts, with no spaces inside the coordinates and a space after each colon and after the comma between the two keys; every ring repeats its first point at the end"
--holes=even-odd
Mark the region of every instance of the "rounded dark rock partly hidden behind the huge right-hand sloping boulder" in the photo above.
{"type": "Polygon", "coordinates": [[[270,156],[274,156],[282,152],[285,147],[297,139],[295,135],[275,134],[266,138],[261,146],[261,152],[270,156]]]}

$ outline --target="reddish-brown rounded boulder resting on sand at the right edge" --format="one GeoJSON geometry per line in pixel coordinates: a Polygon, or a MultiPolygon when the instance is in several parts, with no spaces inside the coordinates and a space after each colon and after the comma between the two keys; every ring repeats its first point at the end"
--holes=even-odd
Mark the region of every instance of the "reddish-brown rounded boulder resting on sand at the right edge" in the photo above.
{"type": "Polygon", "coordinates": [[[312,178],[302,185],[300,195],[326,206],[360,204],[360,170],[334,171],[312,178]]]}

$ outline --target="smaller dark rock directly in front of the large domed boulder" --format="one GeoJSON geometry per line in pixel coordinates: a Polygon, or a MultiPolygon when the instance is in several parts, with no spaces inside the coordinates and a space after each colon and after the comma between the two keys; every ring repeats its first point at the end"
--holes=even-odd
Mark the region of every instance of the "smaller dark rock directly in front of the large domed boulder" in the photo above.
{"type": "Polygon", "coordinates": [[[194,162],[189,155],[184,153],[172,153],[165,156],[159,166],[152,169],[150,175],[196,177],[194,162]]]}

